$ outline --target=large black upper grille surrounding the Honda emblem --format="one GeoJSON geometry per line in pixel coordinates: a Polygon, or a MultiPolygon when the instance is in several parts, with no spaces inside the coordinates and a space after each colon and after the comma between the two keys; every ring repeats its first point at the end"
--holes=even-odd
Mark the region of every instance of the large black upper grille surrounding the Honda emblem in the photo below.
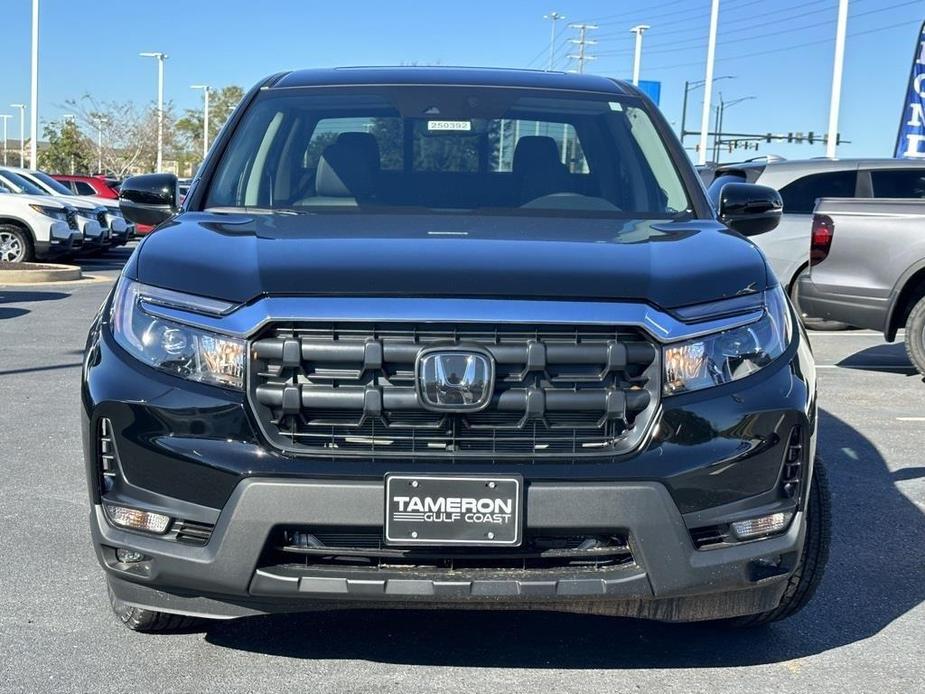
{"type": "Polygon", "coordinates": [[[332,457],[606,457],[635,446],[658,399],[657,350],[600,327],[276,326],[251,346],[248,392],[275,446],[332,457]],[[471,347],[495,363],[478,412],[424,409],[419,352],[471,347]]]}

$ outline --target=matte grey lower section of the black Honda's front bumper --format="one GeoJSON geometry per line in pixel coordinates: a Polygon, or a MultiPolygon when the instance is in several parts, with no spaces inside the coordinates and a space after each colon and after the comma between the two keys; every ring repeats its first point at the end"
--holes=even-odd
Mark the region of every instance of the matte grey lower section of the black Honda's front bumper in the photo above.
{"type": "Polygon", "coordinates": [[[711,551],[694,548],[685,519],[657,483],[534,484],[527,528],[632,528],[634,562],[608,570],[357,569],[261,565],[281,519],[306,526],[381,523],[381,482],[242,482],[204,547],[117,530],[92,514],[100,563],[117,596],[158,610],[234,617],[312,608],[541,606],[675,620],[747,614],[777,605],[803,542],[802,514],[783,535],[711,551]],[[142,552],[120,563],[119,547],[142,552]]]}

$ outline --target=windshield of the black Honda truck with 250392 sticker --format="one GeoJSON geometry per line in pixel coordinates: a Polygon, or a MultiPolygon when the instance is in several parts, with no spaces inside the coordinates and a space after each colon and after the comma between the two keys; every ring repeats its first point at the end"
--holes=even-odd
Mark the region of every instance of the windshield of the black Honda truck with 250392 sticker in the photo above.
{"type": "Polygon", "coordinates": [[[632,98],[362,87],[263,92],[205,206],[673,218],[690,203],[632,98]]]}

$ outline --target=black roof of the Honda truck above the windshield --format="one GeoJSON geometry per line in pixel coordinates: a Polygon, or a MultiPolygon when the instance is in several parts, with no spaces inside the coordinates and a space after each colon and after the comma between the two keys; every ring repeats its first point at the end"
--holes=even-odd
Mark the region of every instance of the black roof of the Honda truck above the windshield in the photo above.
{"type": "Polygon", "coordinates": [[[327,86],[471,86],[632,94],[623,82],[601,75],[485,67],[336,67],[294,70],[279,75],[271,89],[327,86]]]}

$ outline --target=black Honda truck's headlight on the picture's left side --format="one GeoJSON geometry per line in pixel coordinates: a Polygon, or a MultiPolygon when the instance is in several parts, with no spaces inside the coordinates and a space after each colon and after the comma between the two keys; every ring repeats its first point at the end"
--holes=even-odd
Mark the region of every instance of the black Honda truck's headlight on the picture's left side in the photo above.
{"type": "MultiPolygon", "coordinates": [[[[116,342],[136,359],[167,373],[200,383],[243,388],[243,340],[158,318],[141,306],[143,300],[171,303],[176,296],[175,292],[120,279],[110,321],[116,342]]],[[[206,305],[210,300],[199,302],[206,305]]]]}

